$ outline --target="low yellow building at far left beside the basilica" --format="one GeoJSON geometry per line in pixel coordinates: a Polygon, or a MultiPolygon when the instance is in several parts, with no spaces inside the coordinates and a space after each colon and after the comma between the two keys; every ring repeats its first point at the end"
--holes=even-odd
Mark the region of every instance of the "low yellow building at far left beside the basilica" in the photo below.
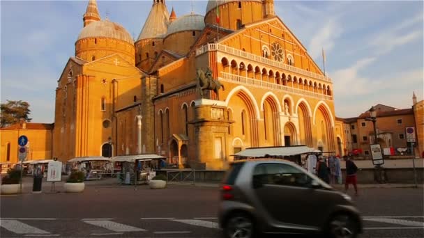
{"type": "Polygon", "coordinates": [[[20,122],[0,128],[0,162],[16,164],[18,159],[17,140],[27,136],[27,160],[52,159],[52,124],[20,122]]]}

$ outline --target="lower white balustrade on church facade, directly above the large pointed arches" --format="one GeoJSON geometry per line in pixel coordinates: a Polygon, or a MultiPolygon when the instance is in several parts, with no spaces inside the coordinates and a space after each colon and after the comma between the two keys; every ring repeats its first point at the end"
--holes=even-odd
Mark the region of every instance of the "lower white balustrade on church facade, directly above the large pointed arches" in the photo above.
{"type": "Polygon", "coordinates": [[[290,93],[299,96],[308,96],[317,98],[319,100],[333,100],[333,96],[325,95],[323,93],[315,93],[309,90],[303,90],[300,88],[292,88],[289,86],[284,86],[281,84],[273,84],[267,81],[262,81],[258,79],[251,79],[248,77],[239,76],[236,74],[229,74],[227,72],[221,72],[222,77],[218,77],[220,81],[226,81],[233,84],[242,84],[245,86],[252,86],[256,88],[264,88],[266,90],[279,90],[285,93],[290,93]]]}

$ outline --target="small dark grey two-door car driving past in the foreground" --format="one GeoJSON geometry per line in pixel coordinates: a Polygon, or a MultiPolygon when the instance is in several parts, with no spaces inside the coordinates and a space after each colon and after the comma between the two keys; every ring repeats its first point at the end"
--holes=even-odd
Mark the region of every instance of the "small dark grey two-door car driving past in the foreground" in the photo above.
{"type": "Polygon", "coordinates": [[[218,216],[225,237],[285,233],[353,238],[362,232],[361,216],[349,196],[282,159],[234,162],[222,183],[218,216]]]}

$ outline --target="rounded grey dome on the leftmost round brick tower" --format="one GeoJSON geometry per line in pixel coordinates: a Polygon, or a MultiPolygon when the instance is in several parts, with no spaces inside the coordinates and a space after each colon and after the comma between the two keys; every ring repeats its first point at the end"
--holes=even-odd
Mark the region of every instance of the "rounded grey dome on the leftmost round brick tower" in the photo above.
{"type": "Polygon", "coordinates": [[[120,24],[110,22],[108,19],[92,22],[85,26],[79,33],[77,41],[84,38],[96,37],[114,38],[134,45],[130,33],[120,24]]]}

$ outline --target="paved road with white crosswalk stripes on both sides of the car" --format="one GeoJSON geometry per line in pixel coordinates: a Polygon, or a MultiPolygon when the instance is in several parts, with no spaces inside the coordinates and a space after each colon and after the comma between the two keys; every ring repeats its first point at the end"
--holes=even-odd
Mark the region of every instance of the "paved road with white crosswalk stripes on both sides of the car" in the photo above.
{"type": "MultiPolygon", "coordinates": [[[[362,189],[361,237],[424,237],[423,189],[362,189]]],[[[1,196],[1,237],[220,237],[214,187],[1,196]]]]}

